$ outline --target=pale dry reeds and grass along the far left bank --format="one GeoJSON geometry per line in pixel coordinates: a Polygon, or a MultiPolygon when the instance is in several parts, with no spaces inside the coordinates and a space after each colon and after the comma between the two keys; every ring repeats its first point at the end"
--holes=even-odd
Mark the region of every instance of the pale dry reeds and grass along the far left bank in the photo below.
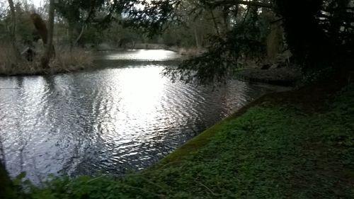
{"type": "Polygon", "coordinates": [[[34,57],[33,62],[28,62],[25,57],[18,59],[13,48],[0,46],[0,75],[33,75],[33,74],[57,74],[62,72],[74,72],[93,65],[93,58],[90,52],[81,48],[58,47],[56,56],[49,64],[49,68],[40,66],[40,57],[34,57]]]}

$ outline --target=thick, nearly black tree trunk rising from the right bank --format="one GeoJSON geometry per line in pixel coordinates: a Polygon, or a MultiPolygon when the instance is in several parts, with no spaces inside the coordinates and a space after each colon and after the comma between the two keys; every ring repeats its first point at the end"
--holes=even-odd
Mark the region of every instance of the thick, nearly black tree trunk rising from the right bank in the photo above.
{"type": "Polygon", "coordinates": [[[282,16],[287,44],[297,63],[307,69],[331,64],[335,51],[316,19],[316,14],[321,11],[321,1],[276,0],[275,3],[276,11],[282,16]],[[307,6],[303,6],[305,4],[307,6]]]}

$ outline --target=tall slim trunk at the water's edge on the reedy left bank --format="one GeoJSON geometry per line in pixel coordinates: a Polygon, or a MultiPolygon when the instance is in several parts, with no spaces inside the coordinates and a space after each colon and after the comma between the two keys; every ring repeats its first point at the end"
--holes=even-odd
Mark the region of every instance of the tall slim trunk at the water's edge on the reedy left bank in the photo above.
{"type": "Polygon", "coordinates": [[[49,68],[49,62],[55,55],[53,46],[53,32],[54,32],[54,15],[55,15],[55,0],[50,0],[49,5],[49,20],[48,20],[48,35],[47,35],[47,45],[45,46],[45,54],[41,59],[41,64],[43,68],[49,68]]]}

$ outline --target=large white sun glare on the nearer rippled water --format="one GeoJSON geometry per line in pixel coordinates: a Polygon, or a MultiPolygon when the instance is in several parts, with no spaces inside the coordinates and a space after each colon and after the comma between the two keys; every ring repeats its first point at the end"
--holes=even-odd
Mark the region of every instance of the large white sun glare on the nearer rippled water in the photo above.
{"type": "MultiPolygon", "coordinates": [[[[159,130],[168,121],[171,110],[165,110],[161,103],[166,98],[166,78],[161,78],[163,67],[139,67],[110,70],[107,76],[109,93],[102,93],[114,103],[107,108],[100,108],[96,118],[98,133],[105,142],[122,147],[127,142],[154,139],[154,134],[147,135],[152,129],[159,130]],[[154,127],[155,126],[155,127],[154,127]],[[124,137],[115,137],[115,135],[124,137]],[[144,135],[143,135],[144,134],[144,135]],[[137,139],[144,136],[141,139],[137,139]]],[[[104,101],[104,99],[102,99],[104,101]]]]}

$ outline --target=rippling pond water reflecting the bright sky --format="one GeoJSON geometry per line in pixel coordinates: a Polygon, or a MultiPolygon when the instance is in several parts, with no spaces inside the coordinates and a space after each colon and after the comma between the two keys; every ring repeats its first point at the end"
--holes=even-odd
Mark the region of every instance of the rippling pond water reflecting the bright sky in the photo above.
{"type": "Polygon", "coordinates": [[[173,84],[160,75],[179,58],[173,52],[117,53],[97,55],[105,69],[0,78],[0,144],[11,176],[26,171],[38,182],[144,169],[254,98],[284,89],[173,84]]]}

